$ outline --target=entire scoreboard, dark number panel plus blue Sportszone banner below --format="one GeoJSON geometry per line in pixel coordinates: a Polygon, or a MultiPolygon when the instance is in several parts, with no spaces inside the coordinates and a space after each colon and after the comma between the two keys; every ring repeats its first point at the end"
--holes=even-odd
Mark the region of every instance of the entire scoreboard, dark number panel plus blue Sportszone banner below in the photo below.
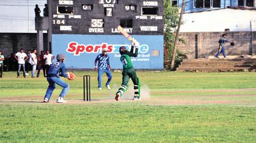
{"type": "Polygon", "coordinates": [[[52,0],[52,53],[66,55],[67,68],[94,68],[94,59],[107,49],[110,64],[122,68],[120,46],[141,44],[137,69],[163,69],[163,0],[52,0]]]}

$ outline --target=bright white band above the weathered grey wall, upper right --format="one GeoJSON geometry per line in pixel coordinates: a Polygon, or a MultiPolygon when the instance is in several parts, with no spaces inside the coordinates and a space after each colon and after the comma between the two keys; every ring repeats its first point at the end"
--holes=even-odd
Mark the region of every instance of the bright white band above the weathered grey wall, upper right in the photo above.
{"type": "Polygon", "coordinates": [[[227,8],[185,13],[180,32],[224,32],[227,28],[231,32],[256,31],[256,11],[227,8]]]}

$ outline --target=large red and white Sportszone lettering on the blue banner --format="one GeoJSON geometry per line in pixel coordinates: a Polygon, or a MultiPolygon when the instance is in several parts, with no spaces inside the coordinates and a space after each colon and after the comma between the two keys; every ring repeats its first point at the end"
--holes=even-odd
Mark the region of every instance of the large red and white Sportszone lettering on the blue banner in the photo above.
{"type": "MultiPolygon", "coordinates": [[[[78,56],[80,53],[100,53],[102,49],[107,49],[108,53],[119,53],[119,47],[124,46],[127,49],[131,47],[131,45],[127,44],[108,44],[108,43],[102,43],[102,44],[78,44],[76,42],[70,42],[67,45],[66,52],[68,53],[74,53],[74,55],[78,56]]],[[[138,53],[147,53],[149,50],[148,45],[142,44],[139,47],[138,53]]]]}

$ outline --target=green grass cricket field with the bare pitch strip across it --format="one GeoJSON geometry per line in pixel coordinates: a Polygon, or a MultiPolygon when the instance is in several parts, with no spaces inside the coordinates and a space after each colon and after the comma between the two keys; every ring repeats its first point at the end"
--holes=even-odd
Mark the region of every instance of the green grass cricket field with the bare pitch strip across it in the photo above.
{"type": "MultiPolygon", "coordinates": [[[[0,79],[0,142],[255,142],[256,72],[138,72],[142,100],[132,101],[132,84],[114,100],[97,90],[95,72],[76,72],[67,81],[68,103],[42,103],[45,78],[0,79]],[[82,101],[83,75],[91,75],[93,101],[82,101]]],[[[103,83],[106,81],[103,78],[103,83]]]]}

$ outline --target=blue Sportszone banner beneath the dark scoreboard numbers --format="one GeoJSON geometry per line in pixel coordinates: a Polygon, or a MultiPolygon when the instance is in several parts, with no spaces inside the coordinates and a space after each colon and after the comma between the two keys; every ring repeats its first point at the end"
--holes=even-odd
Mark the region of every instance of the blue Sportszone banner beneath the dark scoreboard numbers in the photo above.
{"type": "MultiPolygon", "coordinates": [[[[136,69],[163,69],[163,35],[132,35],[139,43],[138,57],[132,58],[136,69]]],[[[119,47],[129,50],[131,42],[123,35],[52,35],[52,54],[66,56],[66,68],[92,69],[102,49],[108,50],[110,65],[122,69],[119,47]]]]}

